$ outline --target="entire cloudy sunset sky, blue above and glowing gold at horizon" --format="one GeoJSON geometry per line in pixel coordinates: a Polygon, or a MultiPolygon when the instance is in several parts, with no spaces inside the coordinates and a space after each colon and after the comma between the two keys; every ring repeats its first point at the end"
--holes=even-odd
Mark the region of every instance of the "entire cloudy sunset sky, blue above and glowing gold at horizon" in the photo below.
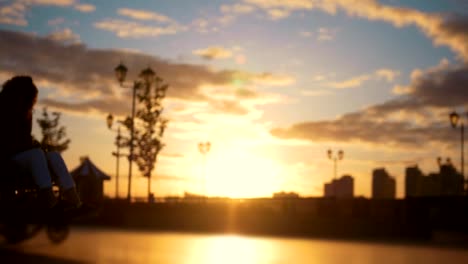
{"type": "MultiPolygon", "coordinates": [[[[114,77],[120,61],[129,81],[150,66],[170,85],[156,196],[203,190],[205,141],[211,196],[321,196],[329,148],[344,151],[338,174],[366,197],[374,168],[403,197],[406,166],[433,172],[438,156],[460,166],[448,114],[468,110],[468,1],[0,0],[1,83],[34,78],[37,108],[63,113],[67,164],[89,156],[113,177],[110,196],[105,117],[131,107],[114,77]]],[[[137,170],[133,187],[146,195],[137,170]]]]}

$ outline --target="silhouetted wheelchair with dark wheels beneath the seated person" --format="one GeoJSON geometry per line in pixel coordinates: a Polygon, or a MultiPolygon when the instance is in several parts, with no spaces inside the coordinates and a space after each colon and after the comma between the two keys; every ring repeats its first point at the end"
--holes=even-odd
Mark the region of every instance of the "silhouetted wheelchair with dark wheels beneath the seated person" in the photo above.
{"type": "MultiPolygon", "coordinates": [[[[58,196],[56,181],[53,190],[58,196]]],[[[64,242],[69,220],[60,206],[44,208],[38,199],[39,188],[11,161],[0,161],[0,235],[9,244],[31,239],[41,230],[53,244],[64,242]]]]}

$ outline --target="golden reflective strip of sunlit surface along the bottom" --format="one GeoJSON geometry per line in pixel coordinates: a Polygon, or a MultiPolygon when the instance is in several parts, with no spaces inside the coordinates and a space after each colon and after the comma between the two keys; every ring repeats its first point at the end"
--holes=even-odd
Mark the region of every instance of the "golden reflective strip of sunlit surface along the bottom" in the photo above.
{"type": "Polygon", "coordinates": [[[468,251],[448,248],[84,228],[61,245],[41,234],[13,248],[91,263],[468,263],[468,251]]]}

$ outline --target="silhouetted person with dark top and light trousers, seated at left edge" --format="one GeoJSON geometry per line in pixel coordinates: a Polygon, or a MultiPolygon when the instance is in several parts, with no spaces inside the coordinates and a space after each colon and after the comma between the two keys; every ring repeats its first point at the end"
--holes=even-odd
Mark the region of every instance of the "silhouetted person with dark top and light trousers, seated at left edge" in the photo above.
{"type": "Polygon", "coordinates": [[[38,89],[29,76],[15,76],[0,92],[0,159],[13,162],[21,173],[32,176],[39,188],[42,205],[54,207],[58,200],[52,191],[52,175],[60,189],[60,200],[80,207],[75,182],[58,152],[45,152],[31,135],[33,108],[38,89]]]}

